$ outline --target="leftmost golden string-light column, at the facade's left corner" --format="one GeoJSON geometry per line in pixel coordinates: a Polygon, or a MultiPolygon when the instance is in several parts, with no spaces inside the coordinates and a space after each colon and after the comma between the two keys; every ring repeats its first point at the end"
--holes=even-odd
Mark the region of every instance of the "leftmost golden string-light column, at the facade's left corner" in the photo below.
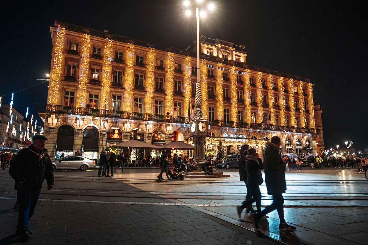
{"type": "Polygon", "coordinates": [[[50,77],[49,104],[57,104],[61,65],[63,61],[64,32],[65,27],[59,26],[56,34],[55,53],[50,77]]]}

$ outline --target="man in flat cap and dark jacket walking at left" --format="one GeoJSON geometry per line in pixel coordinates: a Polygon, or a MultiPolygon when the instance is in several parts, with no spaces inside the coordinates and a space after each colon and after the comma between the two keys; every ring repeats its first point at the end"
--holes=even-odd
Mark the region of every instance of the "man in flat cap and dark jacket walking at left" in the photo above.
{"type": "Polygon", "coordinates": [[[17,154],[9,169],[15,180],[20,206],[16,234],[24,239],[31,238],[33,234],[28,221],[35,212],[43,181],[46,178],[48,190],[54,185],[54,170],[45,141],[47,138],[43,135],[33,136],[33,144],[17,154]]]}

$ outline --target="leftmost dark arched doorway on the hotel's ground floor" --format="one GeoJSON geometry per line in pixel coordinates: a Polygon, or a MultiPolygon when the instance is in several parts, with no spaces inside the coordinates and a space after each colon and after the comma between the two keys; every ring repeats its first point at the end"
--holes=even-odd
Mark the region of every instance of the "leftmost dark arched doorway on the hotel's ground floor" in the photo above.
{"type": "Polygon", "coordinates": [[[73,155],[73,146],[74,128],[70,125],[60,126],[60,128],[57,130],[55,159],[59,159],[61,156],[73,155]]]}

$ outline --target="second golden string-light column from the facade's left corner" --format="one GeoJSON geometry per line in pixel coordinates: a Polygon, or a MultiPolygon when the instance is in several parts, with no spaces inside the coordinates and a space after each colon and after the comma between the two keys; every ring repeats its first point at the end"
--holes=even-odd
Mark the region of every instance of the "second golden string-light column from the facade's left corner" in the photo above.
{"type": "Polygon", "coordinates": [[[78,85],[78,97],[77,106],[85,107],[87,97],[87,81],[88,81],[88,70],[89,70],[89,50],[91,50],[91,35],[83,35],[82,44],[82,59],[81,68],[79,71],[79,85],[78,85]]]}

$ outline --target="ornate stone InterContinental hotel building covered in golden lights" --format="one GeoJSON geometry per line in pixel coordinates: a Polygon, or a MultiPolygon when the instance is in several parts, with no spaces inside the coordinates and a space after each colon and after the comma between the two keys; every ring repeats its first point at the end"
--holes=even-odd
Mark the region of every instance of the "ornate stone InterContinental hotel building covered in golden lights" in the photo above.
{"type": "Polygon", "coordinates": [[[49,93],[39,112],[50,156],[79,150],[96,159],[128,139],[191,143],[197,75],[209,120],[206,148],[216,153],[222,141],[237,152],[248,143],[262,156],[274,135],[282,153],[316,154],[316,142],[323,145],[309,79],[247,64],[242,45],[202,37],[197,74],[195,52],[59,21],[50,31],[49,93]]]}

